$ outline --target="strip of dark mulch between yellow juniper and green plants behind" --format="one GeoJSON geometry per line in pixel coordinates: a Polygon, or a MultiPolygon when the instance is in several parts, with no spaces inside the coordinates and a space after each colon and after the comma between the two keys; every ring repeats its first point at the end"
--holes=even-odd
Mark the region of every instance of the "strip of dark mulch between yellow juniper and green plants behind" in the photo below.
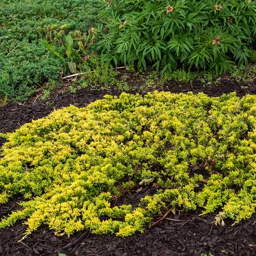
{"type": "MultiPolygon", "coordinates": [[[[223,93],[231,92],[236,92],[238,96],[256,94],[256,79],[253,82],[236,82],[234,79],[227,78],[218,81],[217,84],[207,86],[202,85],[200,81],[195,81],[192,84],[170,81],[153,87],[143,86],[144,80],[141,77],[130,77],[127,80],[130,86],[133,86],[130,93],[144,94],[148,91],[160,90],[170,91],[171,93],[203,92],[208,96],[220,96],[223,93]]],[[[24,123],[47,116],[53,109],[59,109],[70,104],[82,107],[94,102],[94,100],[103,98],[105,94],[119,95],[120,93],[121,91],[116,88],[103,90],[80,89],[75,94],[70,93],[68,89],[57,89],[47,99],[47,102],[41,100],[40,95],[38,95],[27,103],[8,104],[0,108],[0,132],[12,132],[24,123]]]]}

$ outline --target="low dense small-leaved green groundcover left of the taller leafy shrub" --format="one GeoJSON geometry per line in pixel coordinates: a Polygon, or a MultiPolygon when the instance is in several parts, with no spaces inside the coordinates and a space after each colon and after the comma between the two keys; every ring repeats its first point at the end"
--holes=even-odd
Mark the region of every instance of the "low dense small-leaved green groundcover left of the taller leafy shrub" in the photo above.
{"type": "Polygon", "coordinates": [[[99,7],[92,0],[2,0],[0,100],[26,100],[42,82],[70,73],[40,40],[63,45],[69,33],[85,33],[98,21],[99,7]]]}

